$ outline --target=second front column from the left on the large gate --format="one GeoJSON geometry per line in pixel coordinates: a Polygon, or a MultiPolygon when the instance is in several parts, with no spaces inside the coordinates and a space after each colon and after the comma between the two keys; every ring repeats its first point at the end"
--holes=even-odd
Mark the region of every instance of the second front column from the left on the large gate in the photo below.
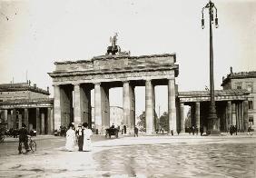
{"type": "Polygon", "coordinates": [[[82,123],[81,101],[80,101],[80,84],[74,84],[74,124],[82,123]]]}

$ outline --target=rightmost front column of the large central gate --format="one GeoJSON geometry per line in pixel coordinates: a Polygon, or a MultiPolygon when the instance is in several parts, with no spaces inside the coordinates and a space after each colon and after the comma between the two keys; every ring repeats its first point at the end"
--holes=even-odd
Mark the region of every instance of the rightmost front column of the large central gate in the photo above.
{"type": "Polygon", "coordinates": [[[177,133],[174,80],[168,80],[168,117],[170,131],[177,133]]]}

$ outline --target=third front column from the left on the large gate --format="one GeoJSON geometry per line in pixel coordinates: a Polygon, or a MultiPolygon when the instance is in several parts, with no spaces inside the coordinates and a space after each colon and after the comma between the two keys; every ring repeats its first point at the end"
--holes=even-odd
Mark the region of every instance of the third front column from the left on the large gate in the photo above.
{"type": "MultiPolygon", "coordinates": [[[[102,94],[101,84],[97,83],[94,85],[94,124],[95,129],[99,134],[102,133],[102,94]]],[[[97,132],[96,131],[96,132],[97,132]]]]}

